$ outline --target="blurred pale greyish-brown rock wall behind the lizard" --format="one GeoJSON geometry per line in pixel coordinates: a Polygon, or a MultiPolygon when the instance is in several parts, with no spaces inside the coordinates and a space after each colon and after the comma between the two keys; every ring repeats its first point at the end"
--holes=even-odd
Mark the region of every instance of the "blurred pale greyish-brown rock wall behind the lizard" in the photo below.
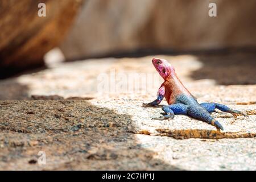
{"type": "Polygon", "coordinates": [[[138,49],[256,46],[254,0],[89,0],[61,49],[67,59],[138,49]],[[208,15],[216,3],[217,17],[208,15]]]}

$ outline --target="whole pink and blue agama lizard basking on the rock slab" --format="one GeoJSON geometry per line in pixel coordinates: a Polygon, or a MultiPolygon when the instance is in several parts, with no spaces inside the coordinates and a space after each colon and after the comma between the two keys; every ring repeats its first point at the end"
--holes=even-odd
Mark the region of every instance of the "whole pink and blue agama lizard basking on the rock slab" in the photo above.
{"type": "Polygon", "coordinates": [[[216,126],[217,129],[224,130],[221,124],[210,115],[214,109],[246,116],[246,114],[243,114],[241,111],[230,109],[228,106],[222,104],[208,102],[199,104],[196,98],[192,96],[192,94],[181,83],[175,73],[174,67],[172,67],[167,60],[153,58],[152,63],[156,71],[158,71],[160,76],[163,77],[164,82],[158,90],[158,97],[156,100],[143,104],[143,106],[158,105],[164,97],[168,102],[168,106],[162,107],[162,110],[164,111],[163,117],[154,119],[173,119],[175,114],[185,114],[216,126]]]}

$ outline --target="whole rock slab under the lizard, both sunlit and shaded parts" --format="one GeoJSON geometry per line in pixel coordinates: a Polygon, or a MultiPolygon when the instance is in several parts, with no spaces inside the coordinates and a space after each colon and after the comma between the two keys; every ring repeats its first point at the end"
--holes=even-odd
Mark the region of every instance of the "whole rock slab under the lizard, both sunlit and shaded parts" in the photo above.
{"type": "Polygon", "coordinates": [[[160,107],[141,106],[155,99],[162,81],[152,56],[50,64],[0,81],[0,169],[255,170],[255,53],[154,56],[170,60],[199,102],[249,117],[213,113],[220,132],[184,115],[152,120],[160,107]],[[133,88],[134,81],[141,86],[133,88]],[[39,151],[46,165],[38,164],[39,151]]]}

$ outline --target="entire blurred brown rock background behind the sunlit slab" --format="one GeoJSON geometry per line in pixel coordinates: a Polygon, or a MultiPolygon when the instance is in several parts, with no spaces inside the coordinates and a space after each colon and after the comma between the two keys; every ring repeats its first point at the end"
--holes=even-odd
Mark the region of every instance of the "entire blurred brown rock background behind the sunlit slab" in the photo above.
{"type": "Polygon", "coordinates": [[[256,46],[254,0],[2,0],[0,15],[1,77],[42,66],[54,47],[76,60],[256,46]],[[211,2],[217,17],[208,15],[211,2]]]}

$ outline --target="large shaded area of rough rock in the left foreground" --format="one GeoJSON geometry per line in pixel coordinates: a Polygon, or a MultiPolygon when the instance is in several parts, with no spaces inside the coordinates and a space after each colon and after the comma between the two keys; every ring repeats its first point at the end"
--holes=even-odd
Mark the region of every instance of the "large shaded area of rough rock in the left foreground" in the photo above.
{"type": "Polygon", "coordinates": [[[130,115],[88,101],[1,101],[0,110],[1,169],[178,169],[141,147],[130,115]]]}

